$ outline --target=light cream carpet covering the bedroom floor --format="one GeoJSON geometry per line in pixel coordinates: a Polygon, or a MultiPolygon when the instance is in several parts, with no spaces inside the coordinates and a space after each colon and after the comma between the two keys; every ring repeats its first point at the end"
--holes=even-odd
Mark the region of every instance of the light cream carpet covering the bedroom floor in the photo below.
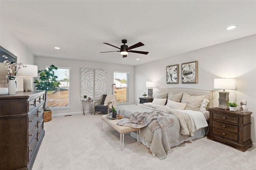
{"type": "Polygon", "coordinates": [[[53,117],[32,170],[255,170],[256,148],[242,152],[206,137],[171,148],[164,160],[150,149],[105,123],[102,114],[53,117]]]}

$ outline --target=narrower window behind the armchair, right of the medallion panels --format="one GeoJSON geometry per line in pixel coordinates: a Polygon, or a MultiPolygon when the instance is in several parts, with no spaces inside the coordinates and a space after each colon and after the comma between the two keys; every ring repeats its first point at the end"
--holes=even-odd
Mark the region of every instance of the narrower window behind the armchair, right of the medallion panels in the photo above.
{"type": "Polygon", "coordinates": [[[117,103],[128,103],[128,73],[114,71],[114,84],[117,103]]]}

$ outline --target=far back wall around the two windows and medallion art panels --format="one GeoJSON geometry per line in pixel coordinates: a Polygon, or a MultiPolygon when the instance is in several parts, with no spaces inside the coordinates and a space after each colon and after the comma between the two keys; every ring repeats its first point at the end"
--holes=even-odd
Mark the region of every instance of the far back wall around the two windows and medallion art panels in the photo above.
{"type": "MultiPolygon", "coordinates": [[[[56,67],[71,67],[70,69],[70,109],[54,110],[53,116],[59,114],[82,113],[82,103],[80,101],[80,68],[106,69],[107,70],[107,94],[112,94],[112,84],[114,71],[129,72],[129,103],[134,103],[134,66],[96,63],[89,61],[79,61],[72,59],[58,59],[52,57],[35,57],[35,64],[38,70],[45,69],[46,65],[54,64],[56,67]]],[[[39,80],[39,77],[37,77],[39,80]]],[[[86,108],[88,110],[88,107],[86,108]]]]}

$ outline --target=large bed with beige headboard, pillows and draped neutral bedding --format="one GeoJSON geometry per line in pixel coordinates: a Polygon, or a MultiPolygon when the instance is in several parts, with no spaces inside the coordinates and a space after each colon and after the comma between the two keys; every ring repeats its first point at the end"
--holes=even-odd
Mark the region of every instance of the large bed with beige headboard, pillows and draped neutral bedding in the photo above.
{"type": "MultiPolygon", "coordinates": [[[[143,125],[140,141],[150,148],[154,156],[163,160],[171,147],[206,135],[209,118],[206,109],[212,105],[212,90],[169,88],[159,89],[152,103],[120,105],[116,109],[121,109],[125,117],[118,122],[119,125],[130,127],[141,126],[141,122],[144,124],[147,122],[144,120],[148,120],[143,116],[152,114],[154,123],[143,125]],[[156,114],[159,115],[157,118],[156,114]],[[142,117],[145,118],[143,121],[142,117]],[[140,123],[134,123],[134,120],[140,123]],[[155,123],[159,125],[155,126],[155,123]]],[[[130,135],[137,139],[136,133],[131,132],[130,135]]]]}

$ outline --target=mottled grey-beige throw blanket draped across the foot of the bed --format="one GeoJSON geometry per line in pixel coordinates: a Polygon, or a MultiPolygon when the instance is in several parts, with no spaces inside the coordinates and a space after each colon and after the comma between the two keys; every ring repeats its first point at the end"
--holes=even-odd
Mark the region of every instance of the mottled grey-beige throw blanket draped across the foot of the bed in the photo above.
{"type": "Polygon", "coordinates": [[[148,128],[154,132],[157,128],[163,131],[173,125],[173,118],[168,114],[158,111],[152,112],[134,112],[130,119],[121,119],[117,125],[127,126],[132,128],[142,128],[148,125],[148,128]]]}

